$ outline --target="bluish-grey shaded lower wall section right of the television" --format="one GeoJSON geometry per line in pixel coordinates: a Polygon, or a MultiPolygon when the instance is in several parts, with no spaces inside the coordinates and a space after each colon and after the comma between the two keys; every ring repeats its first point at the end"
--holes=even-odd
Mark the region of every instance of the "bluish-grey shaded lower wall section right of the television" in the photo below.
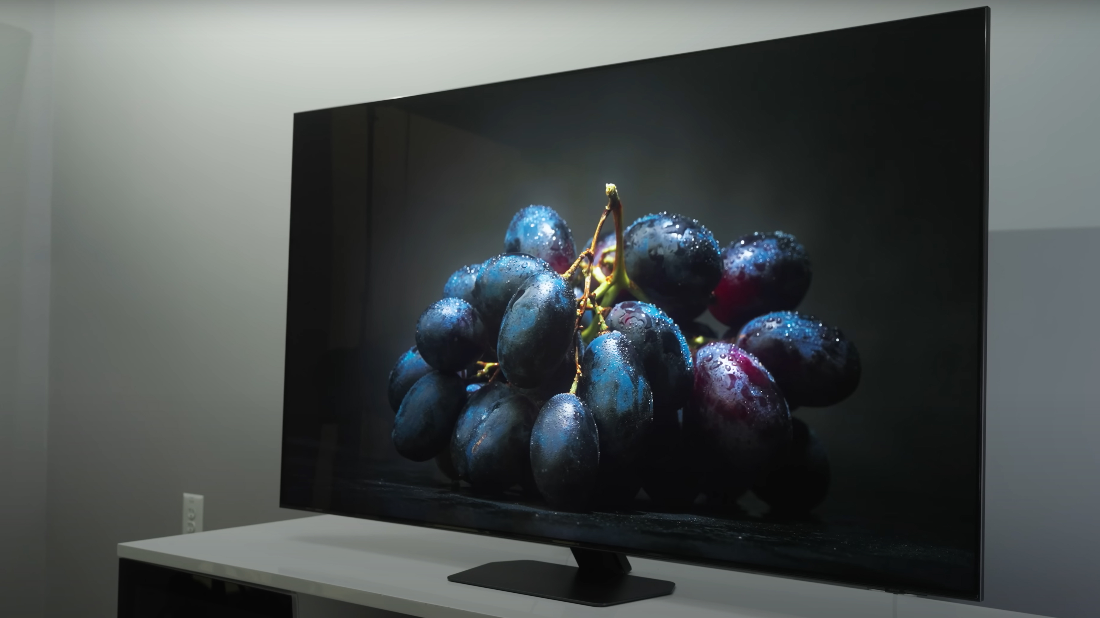
{"type": "Polygon", "coordinates": [[[989,242],[986,594],[1096,615],[1100,574],[1100,229],[989,242]]]}

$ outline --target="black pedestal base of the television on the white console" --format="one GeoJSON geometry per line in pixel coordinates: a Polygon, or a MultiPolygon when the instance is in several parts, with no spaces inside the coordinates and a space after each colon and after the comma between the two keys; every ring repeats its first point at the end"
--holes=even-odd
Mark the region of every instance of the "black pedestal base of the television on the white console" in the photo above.
{"type": "Polygon", "coordinates": [[[572,549],[580,566],[510,560],[482,564],[447,580],[594,607],[670,595],[676,586],[666,580],[629,575],[630,562],[620,553],[572,549]]]}

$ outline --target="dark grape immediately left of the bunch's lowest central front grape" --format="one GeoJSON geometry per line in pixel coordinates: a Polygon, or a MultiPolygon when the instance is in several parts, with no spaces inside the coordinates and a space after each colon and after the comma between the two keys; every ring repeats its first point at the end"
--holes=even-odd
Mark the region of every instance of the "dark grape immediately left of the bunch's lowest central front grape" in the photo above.
{"type": "Polygon", "coordinates": [[[464,450],[471,487],[502,492],[530,477],[531,426],[538,411],[522,395],[505,397],[493,405],[464,450]]]}

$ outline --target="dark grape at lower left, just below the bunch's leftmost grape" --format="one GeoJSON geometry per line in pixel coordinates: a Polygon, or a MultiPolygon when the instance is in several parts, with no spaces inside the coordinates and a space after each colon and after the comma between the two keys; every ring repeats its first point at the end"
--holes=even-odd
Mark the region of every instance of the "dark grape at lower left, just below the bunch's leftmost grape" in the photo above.
{"type": "Polygon", "coordinates": [[[451,374],[432,372],[409,389],[394,418],[394,446],[402,456],[426,462],[447,448],[466,402],[466,387],[451,374]]]}

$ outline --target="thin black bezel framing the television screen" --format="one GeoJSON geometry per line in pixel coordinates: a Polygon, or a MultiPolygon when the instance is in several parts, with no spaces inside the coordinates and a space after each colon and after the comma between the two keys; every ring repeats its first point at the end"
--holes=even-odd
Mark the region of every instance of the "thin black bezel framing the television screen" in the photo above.
{"type": "MultiPolygon", "coordinates": [[[[558,71],[558,73],[552,73],[552,74],[544,74],[544,75],[538,75],[538,76],[531,76],[531,77],[525,77],[525,78],[518,78],[518,79],[509,79],[509,80],[505,80],[505,81],[480,84],[480,85],[474,85],[474,86],[469,86],[469,87],[463,87],[463,88],[453,88],[453,89],[448,89],[448,90],[442,90],[442,91],[421,92],[421,93],[418,93],[418,95],[409,95],[409,96],[404,96],[404,97],[394,97],[394,98],[384,99],[384,100],[380,100],[380,101],[371,101],[371,102],[365,102],[365,103],[355,103],[355,104],[351,104],[351,106],[339,106],[339,107],[336,107],[336,108],[323,108],[323,109],[318,109],[318,110],[309,110],[309,111],[296,112],[294,114],[294,121],[295,121],[295,128],[297,128],[298,122],[300,120],[302,120],[305,117],[309,115],[309,114],[319,113],[319,112],[329,112],[329,111],[332,111],[332,110],[336,110],[336,109],[365,108],[365,110],[370,113],[370,110],[371,110],[371,108],[373,106],[392,103],[393,101],[396,101],[396,100],[410,99],[410,98],[420,97],[420,96],[425,96],[425,95],[432,95],[432,93],[438,93],[438,92],[449,92],[449,91],[454,91],[454,90],[476,90],[476,89],[480,89],[480,88],[487,88],[487,87],[492,87],[492,86],[496,86],[496,85],[501,85],[501,84],[513,84],[513,82],[519,82],[519,81],[535,81],[535,80],[550,78],[550,77],[554,77],[554,76],[559,76],[559,75],[563,75],[563,74],[579,74],[579,73],[586,73],[586,71],[593,71],[593,70],[603,70],[603,69],[607,69],[607,68],[612,68],[612,67],[624,67],[624,66],[630,66],[630,65],[639,65],[639,64],[645,64],[645,63],[649,63],[649,62],[653,62],[653,60],[663,60],[663,59],[668,59],[668,58],[690,57],[692,55],[705,54],[705,53],[713,52],[713,51],[716,51],[716,49],[728,49],[728,48],[734,48],[734,47],[747,47],[747,46],[751,46],[751,45],[758,45],[758,44],[761,44],[761,43],[769,43],[769,42],[772,42],[772,41],[793,40],[793,38],[802,38],[802,37],[806,37],[806,36],[816,36],[816,35],[825,34],[825,33],[836,33],[836,32],[854,31],[854,30],[859,30],[859,29],[876,27],[876,26],[879,26],[879,25],[888,24],[888,23],[908,22],[908,21],[912,21],[912,20],[920,20],[920,19],[931,18],[931,16],[936,16],[936,15],[948,15],[948,14],[970,12],[970,11],[983,11],[983,13],[985,13],[985,33],[986,33],[986,36],[985,36],[985,85],[983,85],[983,90],[985,90],[985,109],[983,109],[985,125],[983,125],[982,197],[981,197],[981,209],[982,209],[981,219],[982,219],[983,224],[982,224],[982,229],[981,229],[981,232],[980,232],[980,239],[978,239],[978,241],[980,242],[980,245],[981,245],[981,260],[982,260],[982,264],[981,264],[981,304],[980,304],[982,310],[981,310],[981,314],[979,316],[979,328],[978,328],[978,339],[979,339],[978,345],[979,345],[979,351],[980,351],[980,358],[979,358],[979,363],[978,363],[978,371],[979,371],[978,378],[980,380],[980,386],[979,386],[979,389],[978,389],[978,398],[979,398],[978,407],[979,407],[979,409],[978,409],[978,415],[977,415],[977,423],[978,423],[977,430],[978,430],[978,441],[979,441],[979,443],[978,443],[978,450],[977,450],[977,455],[976,455],[977,459],[978,459],[977,466],[976,466],[976,470],[978,471],[978,478],[976,479],[977,481],[977,492],[976,492],[977,493],[977,504],[975,505],[975,510],[976,510],[976,514],[977,514],[976,525],[975,525],[975,527],[976,527],[975,538],[977,539],[977,547],[975,548],[976,549],[975,573],[974,573],[975,585],[974,585],[974,588],[972,588],[972,594],[964,594],[964,593],[959,593],[958,591],[955,591],[955,589],[946,589],[946,588],[937,588],[937,587],[902,586],[902,585],[891,584],[889,581],[887,581],[887,580],[889,580],[888,577],[883,577],[882,581],[854,582],[851,580],[846,580],[846,578],[842,578],[842,577],[829,577],[829,576],[823,575],[822,573],[818,573],[818,572],[800,571],[800,570],[794,570],[794,569],[783,569],[783,567],[767,566],[767,565],[760,565],[760,564],[754,564],[754,563],[741,563],[741,562],[735,562],[735,561],[714,560],[714,559],[706,559],[706,558],[700,558],[700,556],[675,555],[675,554],[668,554],[668,553],[663,553],[663,552],[647,552],[647,551],[638,550],[636,548],[626,548],[626,547],[619,547],[619,545],[608,545],[608,544],[590,543],[590,542],[568,541],[568,540],[562,540],[562,539],[553,539],[553,538],[549,538],[549,537],[540,537],[540,536],[531,536],[531,534],[520,534],[520,533],[513,533],[513,532],[503,532],[503,531],[490,530],[490,529],[465,528],[465,527],[460,527],[460,526],[449,526],[449,525],[443,525],[443,523],[432,523],[432,522],[428,522],[428,521],[424,521],[424,520],[417,520],[417,519],[407,519],[407,518],[400,518],[400,517],[373,516],[373,515],[364,515],[362,512],[350,512],[350,511],[342,511],[342,510],[339,510],[339,509],[322,509],[322,508],[317,508],[317,507],[311,507],[311,506],[301,506],[301,505],[296,505],[296,504],[288,504],[288,501],[285,499],[285,490],[286,490],[285,484],[284,484],[285,478],[283,478],[282,476],[280,476],[280,483],[279,483],[279,507],[280,508],[287,508],[287,509],[302,510],[302,511],[307,511],[307,512],[318,512],[318,514],[323,514],[323,515],[338,515],[338,516],[353,517],[353,518],[359,518],[359,519],[367,519],[367,520],[373,520],[373,521],[385,521],[385,522],[391,522],[391,523],[403,523],[403,525],[408,525],[408,526],[419,526],[419,527],[425,527],[425,528],[435,528],[435,529],[441,529],[441,530],[452,530],[452,531],[457,531],[457,532],[465,532],[465,533],[487,536],[487,537],[497,537],[497,538],[512,539],[512,540],[517,540],[517,541],[536,542],[536,543],[558,545],[558,547],[563,547],[563,548],[574,548],[575,547],[575,548],[581,548],[581,549],[591,549],[591,550],[600,550],[600,551],[608,551],[608,552],[618,552],[618,553],[623,553],[623,554],[627,554],[627,555],[632,555],[632,556],[638,556],[638,558],[652,559],[652,560],[661,560],[661,561],[666,561],[666,562],[673,562],[673,563],[680,563],[680,564],[703,565],[703,566],[708,566],[708,567],[714,567],[714,569],[723,569],[723,570],[727,570],[727,571],[739,571],[739,572],[746,572],[746,573],[777,575],[777,576],[782,576],[782,577],[792,578],[792,580],[800,580],[800,581],[806,581],[806,582],[816,582],[816,583],[827,583],[827,584],[833,584],[833,585],[840,585],[840,586],[854,587],[854,588],[861,588],[861,589],[880,589],[880,591],[884,591],[884,592],[888,592],[888,593],[894,593],[894,594],[916,594],[916,595],[921,595],[921,596],[933,596],[933,597],[942,597],[942,598],[948,598],[948,599],[964,599],[964,600],[976,600],[976,602],[977,600],[982,600],[983,594],[985,594],[985,534],[983,534],[985,528],[983,528],[983,523],[985,523],[985,509],[986,509],[986,504],[985,504],[986,503],[986,500],[985,500],[985,477],[986,477],[986,465],[985,465],[985,462],[986,462],[986,457],[985,457],[985,454],[986,454],[986,402],[987,402],[987,395],[986,395],[986,372],[987,372],[987,369],[986,369],[986,365],[987,365],[987,324],[988,324],[988,298],[989,298],[989,295],[988,295],[988,279],[989,279],[989,274],[988,274],[989,273],[989,80],[990,80],[990,35],[991,35],[991,11],[990,11],[989,7],[977,7],[977,8],[972,8],[972,9],[963,9],[963,10],[958,10],[958,11],[948,11],[948,12],[943,12],[943,13],[933,13],[933,14],[928,14],[928,15],[917,15],[917,16],[905,18],[905,19],[901,19],[901,20],[891,20],[891,21],[888,21],[888,22],[878,22],[878,23],[873,23],[873,24],[865,24],[865,25],[858,25],[858,26],[834,29],[834,30],[828,30],[828,31],[821,31],[821,32],[814,32],[814,33],[807,33],[807,34],[800,34],[800,35],[794,35],[794,36],[784,36],[784,37],[772,38],[772,40],[767,40],[767,41],[758,41],[758,42],[751,42],[751,43],[743,43],[743,44],[738,44],[738,45],[728,45],[728,46],[723,46],[723,47],[714,47],[714,48],[708,48],[708,49],[700,49],[700,51],[695,51],[695,52],[685,52],[685,53],[681,53],[681,54],[670,54],[670,55],[657,56],[657,57],[650,57],[650,58],[642,58],[642,59],[637,59],[637,60],[629,60],[629,62],[623,62],[623,63],[614,63],[614,64],[600,65],[600,66],[594,66],[594,67],[585,67],[585,68],[573,69],[573,70],[568,70],[568,71],[558,71]]],[[[373,137],[373,134],[371,132],[369,132],[369,134],[367,134],[369,143],[372,140],[372,137],[373,137]]],[[[370,153],[370,151],[369,151],[369,153],[370,153]]],[[[370,157],[370,154],[369,154],[369,157],[370,157]]],[[[367,175],[369,175],[367,176],[367,183],[371,183],[371,178],[370,178],[371,174],[372,174],[372,167],[371,167],[371,165],[369,163],[369,165],[367,165],[367,175]]],[[[294,189],[293,189],[293,179],[292,179],[292,194],[293,194],[293,191],[294,191],[294,189]]],[[[367,203],[367,208],[370,208],[370,203],[367,203]]],[[[293,220],[293,205],[292,205],[292,220],[293,220]]],[[[289,243],[289,245],[290,246],[289,246],[288,269],[293,268],[293,264],[294,264],[293,257],[294,257],[295,247],[294,247],[293,232],[290,234],[290,243],[289,243]]],[[[292,289],[290,289],[290,286],[288,285],[287,286],[287,297],[288,297],[288,299],[289,299],[290,295],[292,295],[292,289]]],[[[289,322],[289,320],[287,320],[287,333],[286,334],[287,334],[287,338],[289,339],[289,334],[290,334],[290,322],[289,322]]],[[[287,352],[287,354],[288,354],[288,352],[287,352]]],[[[288,363],[286,363],[284,365],[284,372],[286,371],[286,368],[285,368],[286,365],[288,365],[288,363]]],[[[285,379],[288,376],[284,375],[285,379]]],[[[285,383],[284,383],[284,388],[285,388],[285,383]]],[[[287,418],[286,413],[285,413],[285,408],[284,408],[284,417],[283,418],[284,418],[284,427],[283,427],[284,435],[283,435],[283,442],[282,443],[285,445],[285,439],[286,439],[285,431],[286,431],[286,418],[287,418]]],[[[283,456],[285,456],[285,453],[283,453],[283,456]]],[[[280,468],[280,472],[282,472],[282,470],[283,468],[280,468]]]]}

